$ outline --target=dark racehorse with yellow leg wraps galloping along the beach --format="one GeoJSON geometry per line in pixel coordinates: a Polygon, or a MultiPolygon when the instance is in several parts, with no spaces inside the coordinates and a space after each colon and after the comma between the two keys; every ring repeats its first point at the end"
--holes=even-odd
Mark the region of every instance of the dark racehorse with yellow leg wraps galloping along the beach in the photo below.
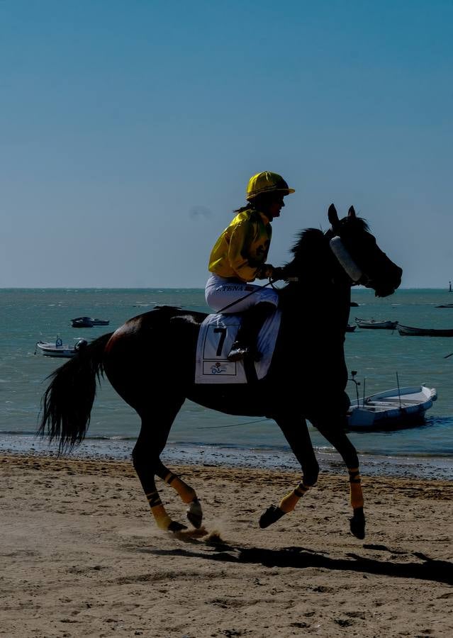
{"type": "Polygon", "coordinates": [[[359,459],[346,430],[349,398],[345,393],[344,341],[351,287],[367,286],[376,296],[385,297],[401,284],[403,271],[382,252],[366,220],[356,216],[353,206],[340,219],[332,204],[328,219],[328,230],[301,230],[291,249],[293,258],[284,267],[286,283],[279,289],[279,334],[263,379],[247,384],[196,384],[196,344],[207,315],[157,306],[85,345],[50,375],[38,434],[47,435],[50,441],[59,440],[59,454],[71,452],[84,440],[96,387],[105,375],[140,417],[133,466],[157,527],[174,533],[187,530],[167,514],[156,476],[172,486],[186,504],[186,518],[196,528],[195,533],[203,520],[196,491],[160,459],[174,418],[186,399],[230,415],[269,418],[279,425],[301,464],[302,477],[278,506],[270,505],[262,513],[262,528],[291,512],[318,479],[309,420],[347,467],[352,506],[349,529],[363,539],[359,459]]]}

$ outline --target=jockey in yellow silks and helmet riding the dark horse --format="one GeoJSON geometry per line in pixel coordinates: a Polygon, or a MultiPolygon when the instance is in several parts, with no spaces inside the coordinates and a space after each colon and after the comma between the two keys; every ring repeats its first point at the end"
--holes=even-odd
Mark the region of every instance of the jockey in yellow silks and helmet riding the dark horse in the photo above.
{"type": "Polygon", "coordinates": [[[250,284],[255,279],[284,279],[284,269],[266,264],[272,237],[271,222],[280,216],[283,198],[290,189],[280,175],[270,171],[250,178],[247,206],[237,208],[232,222],[218,237],[208,269],[205,297],[216,312],[242,313],[242,323],[228,354],[229,361],[252,357],[259,361],[257,336],[264,320],[276,309],[278,293],[272,288],[250,284]]]}

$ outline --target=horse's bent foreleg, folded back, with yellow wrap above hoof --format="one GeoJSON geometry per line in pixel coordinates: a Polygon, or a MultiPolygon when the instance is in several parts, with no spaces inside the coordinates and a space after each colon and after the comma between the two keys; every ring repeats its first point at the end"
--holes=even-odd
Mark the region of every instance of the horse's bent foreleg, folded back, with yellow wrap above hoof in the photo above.
{"type": "Polygon", "coordinates": [[[302,481],[291,492],[284,496],[278,507],[271,505],[259,519],[259,527],[269,527],[279,520],[284,514],[292,512],[298,500],[315,485],[318,480],[319,465],[311,444],[307,422],[301,418],[274,418],[291,449],[302,467],[302,481]]]}

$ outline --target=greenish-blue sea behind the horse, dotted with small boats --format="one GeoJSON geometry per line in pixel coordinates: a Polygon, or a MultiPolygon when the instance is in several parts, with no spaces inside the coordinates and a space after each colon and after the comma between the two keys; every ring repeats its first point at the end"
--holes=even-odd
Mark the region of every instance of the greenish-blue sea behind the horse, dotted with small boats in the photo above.
{"type": "MultiPolygon", "coordinates": [[[[448,289],[403,289],[388,298],[352,289],[349,323],[354,318],[396,320],[420,328],[453,328],[453,303],[448,289]]],[[[55,456],[57,444],[36,436],[41,398],[48,376],[66,359],[45,357],[36,342],[60,337],[73,345],[111,332],[135,315],[157,305],[209,312],[203,289],[0,289],[0,453],[55,456]],[[71,319],[89,316],[109,320],[108,326],[72,328],[71,319]]],[[[307,312],[317,309],[307,301],[307,312]]],[[[308,335],[309,337],[309,335],[308,335]]],[[[359,452],[362,474],[453,478],[453,338],[402,337],[392,330],[361,330],[346,335],[345,354],[350,398],[425,384],[436,388],[437,401],[425,420],[414,427],[386,432],[350,432],[359,452]]],[[[157,366],[158,362],[152,362],[157,366]]],[[[177,374],[177,370],[175,370],[177,374]]],[[[317,379],[323,387],[322,376],[317,379]]],[[[172,378],[167,379],[171,393],[172,378]]],[[[150,401],[165,401],[162,396],[150,401]]],[[[343,471],[330,444],[309,424],[322,471],[343,471]]],[[[135,411],[101,381],[86,439],[72,457],[130,459],[140,421],[135,411]]],[[[237,417],[186,401],[172,426],[162,453],[166,464],[203,464],[300,469],[273,420],[237,417]]]]}

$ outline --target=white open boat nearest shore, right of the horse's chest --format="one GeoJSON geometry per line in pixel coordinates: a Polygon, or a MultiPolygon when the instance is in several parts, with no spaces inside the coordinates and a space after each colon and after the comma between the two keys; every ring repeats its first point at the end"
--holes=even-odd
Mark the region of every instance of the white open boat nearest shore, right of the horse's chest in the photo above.
{"type": "Polygon", "coordinates": [[[426,410],[436,401],[435,388],[393,388],[351,401],[347,412],[349,430],[391,430],[423,423],[426,410]]]}

